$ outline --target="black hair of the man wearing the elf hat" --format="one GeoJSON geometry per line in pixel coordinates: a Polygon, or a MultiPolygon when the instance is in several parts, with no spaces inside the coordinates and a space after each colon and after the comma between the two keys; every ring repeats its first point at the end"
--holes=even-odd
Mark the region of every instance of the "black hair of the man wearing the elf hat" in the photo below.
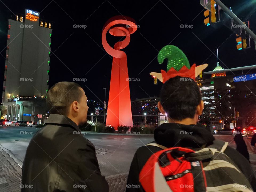
{"type": "Polygon", "coordinates": [[[197,83],[191,78],[176,76],[166,81],[160,91],[160,103],[167,115],[181,121],[195,116],[202,100],[197,83]]]}

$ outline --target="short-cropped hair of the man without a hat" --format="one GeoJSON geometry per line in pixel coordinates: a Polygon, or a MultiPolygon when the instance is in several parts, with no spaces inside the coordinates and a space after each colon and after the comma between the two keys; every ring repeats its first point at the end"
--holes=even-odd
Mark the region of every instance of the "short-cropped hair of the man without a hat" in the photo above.
{"type": "Polygon", "coordinates": [[[53,85],[46,95],[47,110],[53,114],[67,115],[73,101],[80,101],[82,91],[74,82],[62,81],[53,85]]]}

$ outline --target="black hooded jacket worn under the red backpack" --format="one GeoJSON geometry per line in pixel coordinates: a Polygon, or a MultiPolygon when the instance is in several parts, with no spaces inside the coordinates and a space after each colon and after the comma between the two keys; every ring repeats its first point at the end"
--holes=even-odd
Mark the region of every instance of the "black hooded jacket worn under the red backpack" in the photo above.
{"type": "MultiPolygon", "coordinates": [[[[201,124],[198,125],[183,125],[177,123],[164,123],[157,127],[154,131],[155,141],[153,143],[158,143],[165,147],[187,147],[198,151],[204,147],[207,147],[213,142],[215,138],[206,127],[201,124]],[[180,134],[181,131],[193,132],[192,135],[180,134]]],[[[145,143],[146,145],[147,143],[145,143]]],[[[143,187],[139,182],[139,173],[143,166],[149,159],[149,157],[160,151],[159,147],[155,146],[142,146],[140,147],[131,162],[131,167],[128,175],[128,186],[140,186],[140,187],[129,187],[126,188],[126,192],[145,192],[143,187]]],[[[251,169],[251,166],[247,159],[241,155],[237,150],[230,146],[227,146],[224,153],[229,156],[243,172],[246,178],[248,178],[253,190],[256,191],[256,179],[251,169]]]]}

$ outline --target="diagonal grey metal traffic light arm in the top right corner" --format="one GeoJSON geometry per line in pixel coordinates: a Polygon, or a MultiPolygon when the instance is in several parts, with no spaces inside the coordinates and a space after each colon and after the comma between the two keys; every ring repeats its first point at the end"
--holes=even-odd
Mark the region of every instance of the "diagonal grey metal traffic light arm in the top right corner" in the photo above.
{"type": "Polygon", "coordinates": [[[244,30],[250,35],[251,38],[254,39],[254,42],[256,42],[256,34],[253,33],[252,30],[249,29],[232,11],[227,8],[226,5],[224,5],[220,0],[215,0],[215,2],[221,7],[221,9],[229,15],[235,22],[237,22],[239,25],[243,26],[244,30]]]}

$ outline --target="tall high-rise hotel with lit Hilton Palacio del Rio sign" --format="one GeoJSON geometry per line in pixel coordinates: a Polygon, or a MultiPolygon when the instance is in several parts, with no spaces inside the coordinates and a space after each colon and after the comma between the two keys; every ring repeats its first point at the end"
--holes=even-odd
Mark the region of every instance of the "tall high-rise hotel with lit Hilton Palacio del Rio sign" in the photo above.
{"type": "Polygon", "coordinates": [[[51,23],[30,9],[8,21],[2,103],[7,119],[33,121],[48,91],[51,23]]]}

